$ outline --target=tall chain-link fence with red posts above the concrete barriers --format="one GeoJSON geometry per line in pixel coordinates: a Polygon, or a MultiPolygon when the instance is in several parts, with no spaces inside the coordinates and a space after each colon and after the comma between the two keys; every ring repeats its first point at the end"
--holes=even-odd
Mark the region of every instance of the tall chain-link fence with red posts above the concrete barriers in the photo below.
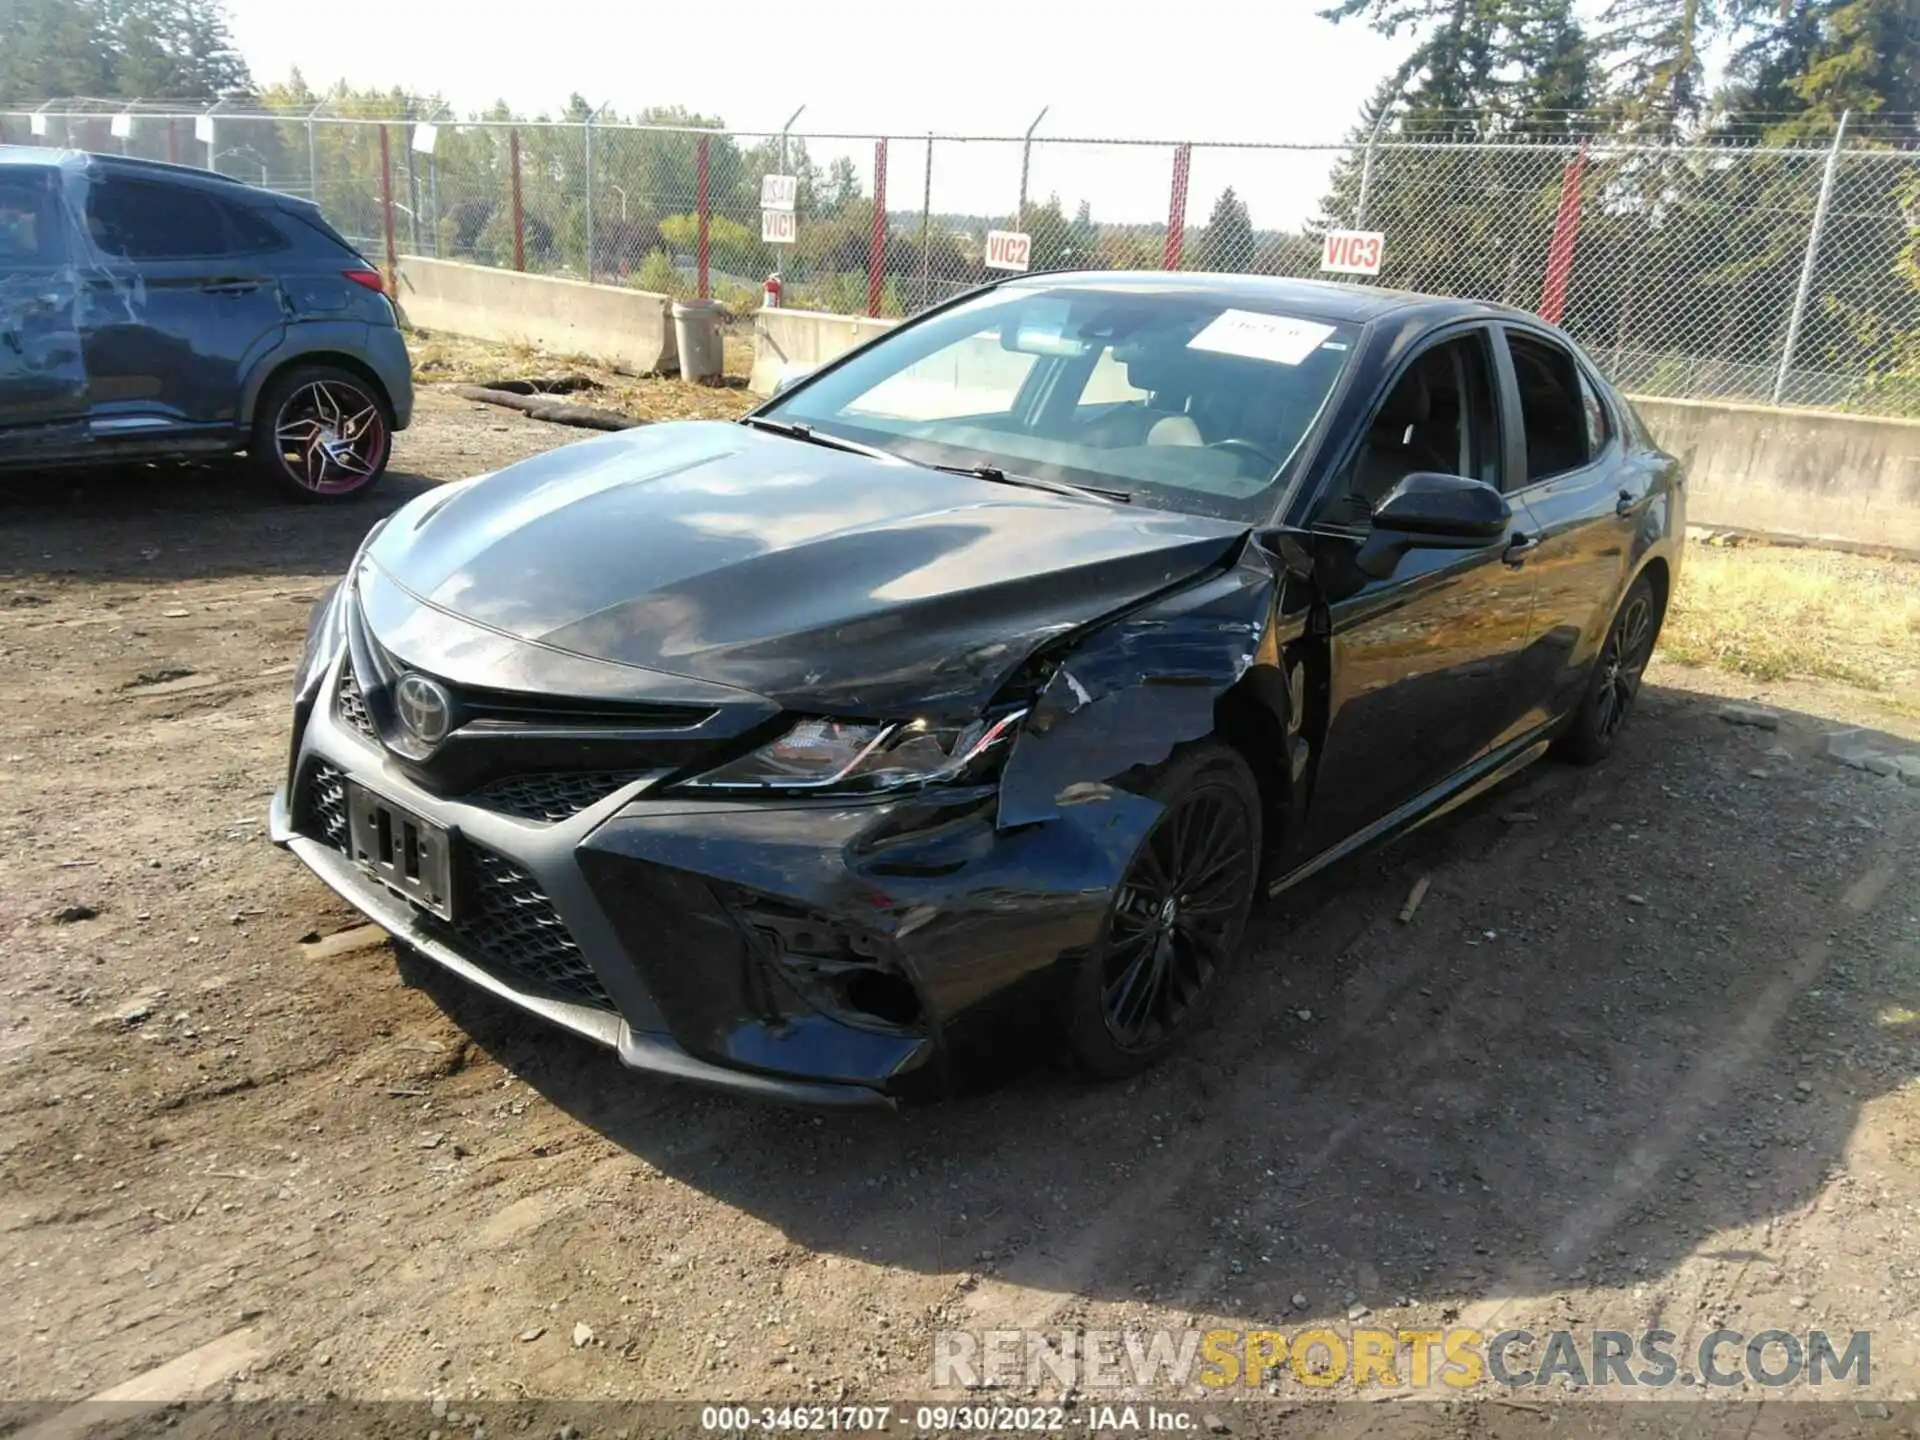
{"type": "MultiPolygon", "coordinates": [[[[1321,275],[1557,315],[1636,394],[1920,415],[1920,152],[1407,138],[1181,144],[751,134],[56,102],[0,142],[217,169],[315,200],[374,259],[438,255],[676,296],[910,315],[993,275],[1321,275]],[[791,238],[762,179],[795,179],[791,238]],[[996,236],[1023,236],[1008,250],[996,236]],[[1354,278],[1354,276],[1344,276],[1354,278]]],[[[1578,134],[1582,127],[1563,127],[1578,134]]]]}

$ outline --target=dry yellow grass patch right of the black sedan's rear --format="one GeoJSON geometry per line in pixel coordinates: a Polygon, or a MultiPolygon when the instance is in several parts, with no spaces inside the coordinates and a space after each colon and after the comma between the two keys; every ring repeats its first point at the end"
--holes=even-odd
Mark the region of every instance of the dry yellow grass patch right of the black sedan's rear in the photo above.
{"type": "Polygon", "coordinates": [[[1690,545],[1661,655],[1755,680],[1837,680],[1920,714],[1920,564],[1690,545]]]}

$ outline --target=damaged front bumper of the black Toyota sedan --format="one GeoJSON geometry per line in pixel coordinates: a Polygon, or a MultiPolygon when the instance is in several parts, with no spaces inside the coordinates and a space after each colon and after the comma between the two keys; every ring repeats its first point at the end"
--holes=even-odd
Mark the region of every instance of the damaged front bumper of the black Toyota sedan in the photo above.
{"type": "Polygon", "coordinates": [[[1054,1043],[1056,985],[1160,806],[1077,787],[1006,826],[995,787],[707,803],[628,785],[557,824],[415,785],[313,707],[275,843],[428,960],[622,1064],[804,1106],[952,1094],[1054,1043]],[[442,920],[349,856],[344,787],[442,826],[442,920]]]}

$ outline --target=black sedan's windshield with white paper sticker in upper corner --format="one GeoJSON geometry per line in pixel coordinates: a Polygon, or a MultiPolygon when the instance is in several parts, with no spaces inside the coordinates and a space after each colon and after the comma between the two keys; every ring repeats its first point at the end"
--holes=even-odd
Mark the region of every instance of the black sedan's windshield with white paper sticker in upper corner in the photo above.
{"type": "Polygon", "coordinates": [[[1261,520],[1357,328],[1192,292],[1014,288],[762,411],[924,465],[1261,520]]]}

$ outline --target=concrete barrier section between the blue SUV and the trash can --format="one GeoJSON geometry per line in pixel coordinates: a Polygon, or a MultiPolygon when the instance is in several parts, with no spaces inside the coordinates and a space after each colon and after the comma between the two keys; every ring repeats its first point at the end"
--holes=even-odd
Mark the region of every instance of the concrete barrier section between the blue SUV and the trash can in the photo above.
{"type": "Polygon", "coordinates": [[[403,255],[399,311],[420,330],[591,355],[634,374],[678,367],[672,301],[645,290],[403,255]]]}

